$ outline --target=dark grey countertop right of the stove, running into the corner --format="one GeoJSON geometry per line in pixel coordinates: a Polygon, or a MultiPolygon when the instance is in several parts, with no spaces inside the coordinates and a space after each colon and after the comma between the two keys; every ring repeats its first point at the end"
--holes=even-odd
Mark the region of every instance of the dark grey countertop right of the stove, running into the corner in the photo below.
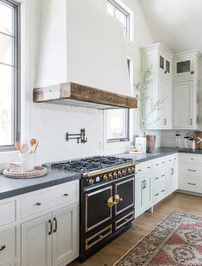
{"type": "Polygon", "coordinates": [[[202,150],[195,150],[195,151],[191,151],[191,150],[187,150],[187,149],[176,149],[176,148],[169,148],[169,147],[158,147],[158,148],[154,148],[154,150],[152,152],[147,152],[147,153],[143,153],[143,154],[131,154],[129,152],[125,152],[125,153],[118,153],[118,154],[113,154],[112,156],[116,156],[116,157],[123,157],[123,158],[131,158],[134,162],[145,162],[145,161],[149,161],[149,160],[153,160],[153,159],[157,159],[163,156],[167,156],[167,155],[171,155],[174,153],[178,153],[178,152],[184,152],[184,153],[194,153],[194,154],[202,154],[202,150]]]}

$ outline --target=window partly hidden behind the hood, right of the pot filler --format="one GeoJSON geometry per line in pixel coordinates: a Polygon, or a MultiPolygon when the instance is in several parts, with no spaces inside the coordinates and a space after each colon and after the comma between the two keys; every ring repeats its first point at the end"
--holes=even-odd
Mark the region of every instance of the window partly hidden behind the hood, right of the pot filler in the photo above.
{"type": "MultiPolygon", "coordinates": [[[[128,71],[130,75],[130,63],[128,71]]],[[[120,142],[129,140],[129,109],[112,109],[106,111],[107,142],[120,142]]]]}

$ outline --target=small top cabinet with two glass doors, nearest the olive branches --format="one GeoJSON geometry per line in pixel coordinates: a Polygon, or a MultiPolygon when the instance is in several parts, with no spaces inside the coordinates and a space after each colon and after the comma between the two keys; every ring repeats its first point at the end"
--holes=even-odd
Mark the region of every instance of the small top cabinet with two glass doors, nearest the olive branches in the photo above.
{"type": "Polygon", "coordinates": [[[147,68],[153,65],[153,73],[162,78],[171,78],[173,53],[161,43],[141,47],[141,64],[147,68]]]}

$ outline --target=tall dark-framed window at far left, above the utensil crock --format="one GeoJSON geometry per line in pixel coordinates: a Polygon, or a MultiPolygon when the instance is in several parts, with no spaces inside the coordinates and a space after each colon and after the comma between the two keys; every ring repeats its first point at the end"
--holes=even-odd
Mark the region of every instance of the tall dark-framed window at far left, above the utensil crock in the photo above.
{"type": "Polygon", "coordinates": [[[19,4],[0,0],[0,149],[14,148],[19,132],[19,4]]]}

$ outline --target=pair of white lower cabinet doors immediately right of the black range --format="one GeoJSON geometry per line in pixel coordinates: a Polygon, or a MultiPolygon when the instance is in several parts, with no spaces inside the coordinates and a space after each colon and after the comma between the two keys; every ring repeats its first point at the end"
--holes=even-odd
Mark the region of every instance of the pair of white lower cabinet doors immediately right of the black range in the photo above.
{"type": "Polygon", "coordinates": [[[152,205],[152,174],[135,180],[135,215],[152,205]]]}

